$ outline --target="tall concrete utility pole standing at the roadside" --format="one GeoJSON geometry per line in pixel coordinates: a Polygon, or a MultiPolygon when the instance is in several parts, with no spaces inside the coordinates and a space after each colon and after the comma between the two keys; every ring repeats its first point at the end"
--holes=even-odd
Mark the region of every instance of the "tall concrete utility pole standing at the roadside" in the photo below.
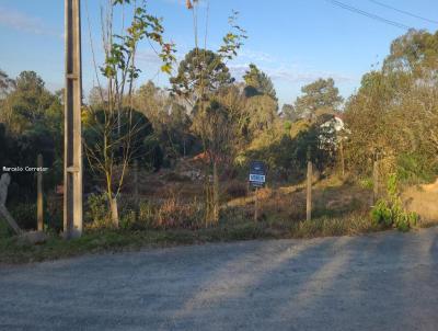
{"type": "Polygon", "coordinates": [[[65,238],[82,235],[82,72],[80,0],[65,0],[66,91],[64,150],[65,238]]]}

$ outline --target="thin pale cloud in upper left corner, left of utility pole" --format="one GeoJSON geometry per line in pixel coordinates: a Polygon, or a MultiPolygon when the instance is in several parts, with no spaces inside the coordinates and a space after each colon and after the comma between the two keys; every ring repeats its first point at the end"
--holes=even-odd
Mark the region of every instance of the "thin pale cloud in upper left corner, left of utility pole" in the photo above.
{"type": "Polygon", "coordinates": [[[0,7],[0,25],[25,33],[64,37],[64,34],[47,27],[39,18],[3,7],[0,7]]]}

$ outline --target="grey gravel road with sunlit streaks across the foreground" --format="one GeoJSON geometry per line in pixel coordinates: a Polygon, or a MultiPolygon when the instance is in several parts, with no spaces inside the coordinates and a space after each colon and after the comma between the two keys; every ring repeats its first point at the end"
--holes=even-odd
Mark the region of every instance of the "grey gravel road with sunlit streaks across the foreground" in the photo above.
{"type": "Polygon", "coordinates": [[[438,330],[438,228],[0,266],[0,330],[438,330]]]}

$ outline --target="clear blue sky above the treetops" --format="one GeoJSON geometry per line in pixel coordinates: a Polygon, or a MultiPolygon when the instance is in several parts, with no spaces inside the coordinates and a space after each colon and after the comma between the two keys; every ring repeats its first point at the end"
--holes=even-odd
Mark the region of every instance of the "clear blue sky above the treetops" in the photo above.
{"type": "MultiPolygon", "coordinates": [[[[106,1],[81,0],[85,94],[96,84],[91,45],[96,62],[103,61],[100,8],[106,1]]],[[[209,5],[206,1],[199,8],[199,34],[204,41],[208,22],[207,47],[214,50],[220,47],[229,31],[228,16],[232,10],[239,11],[239,24],[247,31],[249,38],[228,66],[233,77],[241,80],[247,66],[255,64],[272,78],[280,104],[292,103],[301,87],[328,77],[335,80],[341,94],[348,98],[360,85],[364,73],[381,66],[391,42],[404,34],[405,27],[438,30],[437,0],[209,0],[209,5]],[[397,26],[359,14],[357,10],[396,22],[397,26]]],[[[177,58],[183,58],[195,45],[193,15],[185,9],[185,1],[148,0],[147,3],[150,13],[163,18],[165,39],[175,43],[177,58]]],[[[115,30],[122,31],[119,11],[115,20],[115,30]]],[[[10,77],[34,70],[49,90],[62,88],[62,0],[0,0],[0,69],[10,77]]],[[[139,48],[138,67],[141,69],[138,85],[149,79],[160,87],[169,85],[169,76],[160,72],[160,59],[148,43],[139,48]]]]}

